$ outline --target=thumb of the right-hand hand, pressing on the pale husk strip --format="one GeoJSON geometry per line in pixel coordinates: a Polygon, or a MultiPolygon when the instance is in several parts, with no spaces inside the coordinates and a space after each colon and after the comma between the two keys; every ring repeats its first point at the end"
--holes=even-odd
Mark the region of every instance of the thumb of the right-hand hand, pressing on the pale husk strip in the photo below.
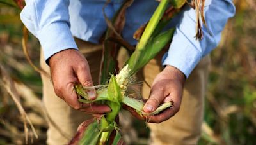
{"type": "Polygon", "coordinates": [[[145,103],[145,106],[143,107],[143,110],[145,113],[151,113],[157,109],[159,104],[164,99],[164,88],[163,86],[158,86],[157,84],[152,86],[150,97],[145,103]]]}

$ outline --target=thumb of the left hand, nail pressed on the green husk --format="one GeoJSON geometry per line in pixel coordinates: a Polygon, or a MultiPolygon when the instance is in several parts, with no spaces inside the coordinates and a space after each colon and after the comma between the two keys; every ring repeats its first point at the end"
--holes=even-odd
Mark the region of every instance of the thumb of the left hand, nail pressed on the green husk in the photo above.
{"type": "MultiPolygon", "coordinates": [[[[86,60],[83,64],[79,64],[79,66],[77,66],[77,70],[75,70],[75,72],[76,72],[79,83],[81,83],[85,87],[93,86],[90,67],[86,60]]],[[[90,100],[96,99],[97,93],[95,91],[95,88],[86,89],[86,92],[88,93],[88,97],[90,100]]]]}

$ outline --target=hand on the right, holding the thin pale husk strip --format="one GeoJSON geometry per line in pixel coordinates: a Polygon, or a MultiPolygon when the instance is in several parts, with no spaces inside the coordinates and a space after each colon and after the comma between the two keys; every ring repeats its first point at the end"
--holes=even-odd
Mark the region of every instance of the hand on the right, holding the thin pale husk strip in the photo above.
{"type": "Polygon", "coordinates": [[[180,109],[182,92],[185,83],[184,74],[173,66],[166,66],[153,81],[150,97],[145,103],[143,110],[151,113],[164,102],[173,102],[173,107],[165,109],[163,112],[147,116],[148,122],[161,123],[174,116],[180,109]]]}

